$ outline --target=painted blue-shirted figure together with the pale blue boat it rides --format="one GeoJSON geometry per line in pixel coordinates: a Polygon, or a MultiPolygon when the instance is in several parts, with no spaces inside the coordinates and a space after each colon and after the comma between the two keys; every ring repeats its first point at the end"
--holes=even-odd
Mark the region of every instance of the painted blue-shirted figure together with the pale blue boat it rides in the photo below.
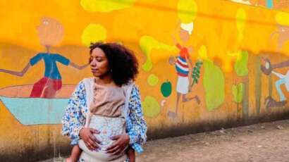
{"type": "MultiPolygon", "coordinates": [[[[61,54],[53,54],[50,52],[52,46],[59,44],[63,39],[63,26],[59,21],[53,18],[42,18],[40,25],[37,27],[40,44],[44,46],[46,51],[39,52],[36,56],[30,58],[29,63],[21,70],[13,71],[0,69],[1,73],[8,73],[22,77],[30,67],[35,66],[39,61],[44,62],[44,76],[35,82],[33,86],[17,85],[14,87],[6,87],[1,89],[3,96],[0,96],[3,104],[23,125],[33,124],[58,124],[63,107],[68,103],[68,99],[53,99],[56,98],[56,93],[61,90],[62,81],[61,73],[56,63],[61,63],[64,66],[72,66],[81,70],[88,66],[78,66],[68,58],[61,54]],[[11,92],[19,92],[20,89],[29,91],[28,97],[11,96],[11,92]],[[45,98],[45,99],[40,99],[45,98]]],[[[72,92],[71,86],[66,86],[68,92],[72,92]]],[[[23,94],[23,93],[20,93],[23,94]]],[[[67,94],[69,96],[69,94],[67,94]]]]}

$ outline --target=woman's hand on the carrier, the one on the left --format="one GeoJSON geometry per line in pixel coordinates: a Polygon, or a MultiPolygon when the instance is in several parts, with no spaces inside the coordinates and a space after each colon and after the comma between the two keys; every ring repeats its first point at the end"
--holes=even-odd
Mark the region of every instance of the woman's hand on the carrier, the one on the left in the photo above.
{"type": "Polygon", "coordinates": [[[79,132],[80,138],[85,142],[85,145],[88,149],[94,150],[99,148],[99,140],[94,137],[93,134],[99,134],[98,130],[94,130],[92,128],[84,127],[79,132]]]}

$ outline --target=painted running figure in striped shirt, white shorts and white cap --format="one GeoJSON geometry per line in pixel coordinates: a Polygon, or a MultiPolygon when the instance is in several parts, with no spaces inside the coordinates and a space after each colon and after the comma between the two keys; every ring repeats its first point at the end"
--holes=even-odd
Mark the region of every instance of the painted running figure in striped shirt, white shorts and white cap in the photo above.
{"type": "MultiPolygon", "coordinates": [[[[190,35],[192,34],[193,26],[193,23],[180,24],[180,39],[183,44],[187,44],[187,42],[189,41],[190,35]]],[[[178,75],[178,81],[176,85],[176,111],[168,111],[168,117],[170,118],[176,118],[178,116],[178,105],[180,102],[180,96],[182,96],[182,102],[187,102],[195,99],[195,101],[197,101],[197,104],[200,104],[199,96],[196,95],[190,98],[187,97],[188,92],[191,92],[192,88],[192,78],[190,77],[190,74],[192,73],[192,61],[190,60],[190,53],[192,53],[192,47],[185,47],[180,45],[176,41],[175,35],[173,35],[173,41],[179,49],[179,56],[177,56],[176,58],[170,57],[168,60],[171,65],[176,66],[176,72],[178,75]]]]}

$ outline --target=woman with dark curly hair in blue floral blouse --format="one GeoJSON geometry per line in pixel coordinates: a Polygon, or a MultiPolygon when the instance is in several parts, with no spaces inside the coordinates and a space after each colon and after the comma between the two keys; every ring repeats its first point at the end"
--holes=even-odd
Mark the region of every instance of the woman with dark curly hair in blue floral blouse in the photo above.
{"type": "MultiPolygon", "coordinates": [[[[125,150],[126,147],[131,147],[133,150],[141,153],[143,151],[142,144],[146,142],[147,125],[142,114],[142,107],[140,101],[140,93],[137,87],[131,82],[135,80],[138,73],[138,63],[132,51],[126,49],[124,46],[113,43],[96,43],[90,46],[90,66],[94,77],[89,82],[92,82],[94,87],[114,87],[119,88],[128,87],[131,85],[131,91],[125,94],[128,99],[125,104],[128,104],[128,116],[125,118],[125,133],[111,137],[113,143],[106,148],[106,152],[111,155],[118,155],[125,150]]],[[[73,145],[73,158],[78,155],[78,142],[84,142],[88,150],[97,150],[101,146],[101,142],[97,139],[97,134],[102,133],[91,127],[85,127],[85,120],[88,118],[87,114],[92,111],[93,107],[103,109],[103,105],[109,105],[113,100],[102,99],[98,97],[96,102],[90,105],[87,104],[88,91],[85,89],[86,80],[82,80],[78,84],[71,96],[66,111],[63,116],[63,135],[70,137],[71,145],[73,145]],[[105,100],[105,101],[99,101],[105,100]],[[98,105],[101,102],[101,105],[98,105]],[[76,148],[76,149],[75,149],[76,148]],[[76,152],[76,153],[75,153],[76,152]]],[[[99,89],[93,89],[93,95],[97,96],[99,89]]],[[[119,89],[118,89],[119,90],[119,89]]],[[[102,92],[100,92],[102,93],[102,92]]],[[[92,94],[90,94],[92,95],[92,94]]],[[[105,98],[105,97],[104,97],[105,98]]],[[[97,110],[94,109],[94,110],[97,110]]],[[[112,112],[110,107],[103,109],[102,112],[112,112]]],[[[114,111],[116,108],[114,109],[114,111]]],[[[102,113],[102,115],[104,115],[102,113]]],[[[85,161],[80,156],[80,161],[85,161]]],[[[129,161],[126,159],[126,161],[129,161]]]]}

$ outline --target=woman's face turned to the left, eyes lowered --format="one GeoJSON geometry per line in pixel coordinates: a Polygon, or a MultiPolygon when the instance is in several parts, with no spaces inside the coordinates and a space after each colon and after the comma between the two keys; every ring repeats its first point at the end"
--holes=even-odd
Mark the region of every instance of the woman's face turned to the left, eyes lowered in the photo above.
{"type": "Polygon", "coordinates": [[[94,77],[109,75],[109,61],[102,49],[95,48],[92,50],[92,54],[90,54],[90,69],[94,77]]]}

